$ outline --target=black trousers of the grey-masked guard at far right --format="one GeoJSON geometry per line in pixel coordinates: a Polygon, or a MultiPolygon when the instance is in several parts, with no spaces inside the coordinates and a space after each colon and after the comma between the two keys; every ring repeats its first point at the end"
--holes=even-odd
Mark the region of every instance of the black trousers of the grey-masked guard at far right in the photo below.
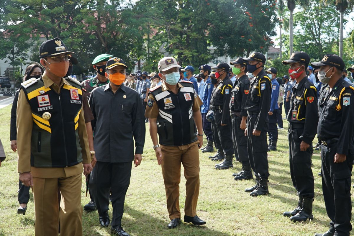
{"type": "MultiPolygon", "coordinates": [[[[334,163],[337,145],[321,145],[322,191],[326,211],[331,219],[330,226],[336,230],[336,236],[349,236],[352,230],[352,202],[350,200],[350,177],[352,176],[353,154],[347,160],[334,163]]],[[[333,231],[332,231],[333,232],[333,231]]]]}

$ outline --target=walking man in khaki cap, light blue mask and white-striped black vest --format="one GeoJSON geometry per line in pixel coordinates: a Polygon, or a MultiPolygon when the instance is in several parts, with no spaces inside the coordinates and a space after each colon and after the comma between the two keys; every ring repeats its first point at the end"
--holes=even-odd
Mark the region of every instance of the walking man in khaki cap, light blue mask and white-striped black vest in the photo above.
{"type": "Polygon", "coordinates": [[[158,69],[163,82],[161,86],[150,90],[145,110],[145,116],[149,118],[153,148],[158,164],[162,165],[167,209],[171,219],[168,225],[170,229],[181,224],[178,199],[181,163],[187,179],[184,222],[194,225],[206,224],[196,214],[199,196],[198,149],[203,145],[199,110],[202,103],[194,90],[193,82],[178,82],[179,67],[173,57],[164,57],[160,60],[158,69]]]}

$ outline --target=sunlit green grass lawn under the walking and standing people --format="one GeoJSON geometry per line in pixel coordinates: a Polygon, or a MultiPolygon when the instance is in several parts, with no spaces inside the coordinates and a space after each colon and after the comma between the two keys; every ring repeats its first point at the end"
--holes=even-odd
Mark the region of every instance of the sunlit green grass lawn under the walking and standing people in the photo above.
{"type": "MultiPolygon", "coordinates": [[[[32,191],[26,215],[17,214],[17,155],[10,149],[10,109],[11,105],[0,109],[0,138],[7,155],[0,167],[0,236],[30,236],[34,235],[32,191]]],[[[314,151],[312,168],[315,178],[314,220],[292,223],[289,218],[282,216],[282,212],[297,206],[298,199],[290,179],[287,123],[284,123],[284,128],[279,131],[278,150],[268,153],[268,196],[250,197],[244,189],[252,186],[253,180],[236,182],[233,179],[232,173],[240,171],[239,162],[234,162],[234,169],[215,170],[216,163],[208,159],[210,153],[200,152],[200,194],[197,212],[207,224],[195,227],[183,223],[172,230],[166,227],[170,219],[166,209],[164,182],[147,132],[142,164],[132,170],[122,219],[123,228],[132,236],[312,236],[315,232],[327,231],[329,219],[322,196],[321,178],[317,175],[321,167],[319,151],[314,151]]],[[[183,219],[183,168],[180,186],[183,219]]],[[[89,197],[85,197],[85,190],[82,176],[82,206],[89,202],[89,197]]],[[[112,206],[109,215],[112,218],[112,206]]],[[[85,236],[110,235],[109,229],[99,226],[97,211],[84,212],[82,218],[85,236]]]]}

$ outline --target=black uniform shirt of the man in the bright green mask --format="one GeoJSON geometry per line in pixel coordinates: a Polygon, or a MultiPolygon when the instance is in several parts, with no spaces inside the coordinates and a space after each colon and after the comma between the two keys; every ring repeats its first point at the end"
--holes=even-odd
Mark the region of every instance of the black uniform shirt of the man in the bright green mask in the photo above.
{"type": "Polygon", "coordinates": [[[247,75],[242,75],[235,82],[234,88],[231,91],[230,110],[239,112],[241,116],[247,116],[245,109],[247,94],[250,92],[250,80],[247,75]]]}

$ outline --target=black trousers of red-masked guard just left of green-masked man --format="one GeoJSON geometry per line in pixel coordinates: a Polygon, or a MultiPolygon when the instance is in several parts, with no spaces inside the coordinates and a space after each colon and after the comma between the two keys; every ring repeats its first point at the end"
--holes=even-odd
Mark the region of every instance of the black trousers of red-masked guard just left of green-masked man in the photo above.
{"type": "Polygon", "coordinates": [[[233,155],[234,147],[232,145],[231,137],[231,117],[228,115],[230,119],[228,119],[227,125],[222,126],[221,115],[222,113],[219,113],[219,111],[214,111],[215,123],[220,138],[220,144],[224,150],[225,155],[233,155]]]}

